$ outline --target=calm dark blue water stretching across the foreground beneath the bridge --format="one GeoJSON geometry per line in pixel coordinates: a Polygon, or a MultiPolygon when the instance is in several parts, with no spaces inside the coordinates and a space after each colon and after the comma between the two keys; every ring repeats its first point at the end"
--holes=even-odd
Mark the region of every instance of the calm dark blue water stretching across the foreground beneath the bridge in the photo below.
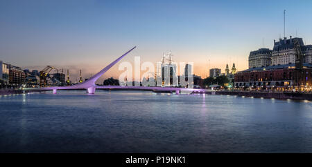
{"type": "Polygon", "coordinates": [[[0,96],[3,153],[312,153],[312,103],[144,91],[0,96]]]}

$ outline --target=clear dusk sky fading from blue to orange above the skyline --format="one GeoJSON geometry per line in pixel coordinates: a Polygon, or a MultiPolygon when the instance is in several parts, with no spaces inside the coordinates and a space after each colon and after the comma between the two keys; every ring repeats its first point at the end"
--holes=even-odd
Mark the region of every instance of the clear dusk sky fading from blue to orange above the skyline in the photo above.
{"type": "MultiPolygon", "coordinates": [[[[0,60],[21,68],[69,69],[88,78],[124,52],[122,61],[193,62],[196,75],[235,63],[248,68],[250,51],[273,40],[302,37],[312,44],[312,1],[0,0],[0,60]],[[263,43],[264,41],[264,43],[263,43]]],[[[121,61],[121,62],[122,62],[121,61]]],[[[118,78],[119,64],[103,75],[118,78]]]]}

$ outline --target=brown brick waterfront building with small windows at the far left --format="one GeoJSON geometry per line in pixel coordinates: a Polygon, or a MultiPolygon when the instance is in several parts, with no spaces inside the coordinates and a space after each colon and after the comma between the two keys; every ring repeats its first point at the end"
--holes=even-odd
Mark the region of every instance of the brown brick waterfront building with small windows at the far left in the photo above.
{"type": "Polygon", "coordinates": [[[20,67],[12,66],[8,64],[9,67],[9,83],[11,86],[21,86],[25,83],[26,75],[20,67]]]}

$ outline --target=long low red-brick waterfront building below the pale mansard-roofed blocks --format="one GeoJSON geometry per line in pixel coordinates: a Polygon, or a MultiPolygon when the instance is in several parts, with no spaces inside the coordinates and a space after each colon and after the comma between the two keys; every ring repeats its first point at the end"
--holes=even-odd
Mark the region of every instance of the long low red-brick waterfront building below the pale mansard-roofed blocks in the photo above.
{"type": "Polygon", "coordinates": [[[234,76],[236,88],[306,90],[312,86],[312,64],[303,63],[302,71],[295,63],[261,68],[250,68],[234,76]]]}

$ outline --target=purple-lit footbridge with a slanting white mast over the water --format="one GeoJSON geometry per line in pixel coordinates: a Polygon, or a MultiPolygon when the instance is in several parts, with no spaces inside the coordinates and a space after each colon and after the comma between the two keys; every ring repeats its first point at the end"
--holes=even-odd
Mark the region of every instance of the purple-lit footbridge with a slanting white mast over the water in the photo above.
{"type": "Polygon", "coordinates": [[[176,94],[180,94],[181,91],[184,92],[198,92],[198,93],[205,93],[209,90],[205,89],[193,89],[193,88],[171,88],[171,87],[146,87],[146,86],[96,86],[96,81],[98,78],[100,78],[107,70],[112,68],[118,61],[123,59],[126,55],[128,55],[129,52],[134,50],[137,46],[133,47],[132,49],[128,50],[128,52],[125,52],[121,57],[110,63],[108,66],[103,68],[100,72],[96,73],[93,77],[89,78],[87,81],[84,81],[82,83],[78,83],[73,86],[54,86],[54,87],[47,87],[47,88],[36,88],[35,90],[53,90],[53,94],[56,94],[57,90],[78,90],[78,89],[84,89],[87,90],[87,93],[94,94],[96,89],[117,89],[117,90],[155,90],[155,91],[171,91],[176,92],[176,94]]]}

